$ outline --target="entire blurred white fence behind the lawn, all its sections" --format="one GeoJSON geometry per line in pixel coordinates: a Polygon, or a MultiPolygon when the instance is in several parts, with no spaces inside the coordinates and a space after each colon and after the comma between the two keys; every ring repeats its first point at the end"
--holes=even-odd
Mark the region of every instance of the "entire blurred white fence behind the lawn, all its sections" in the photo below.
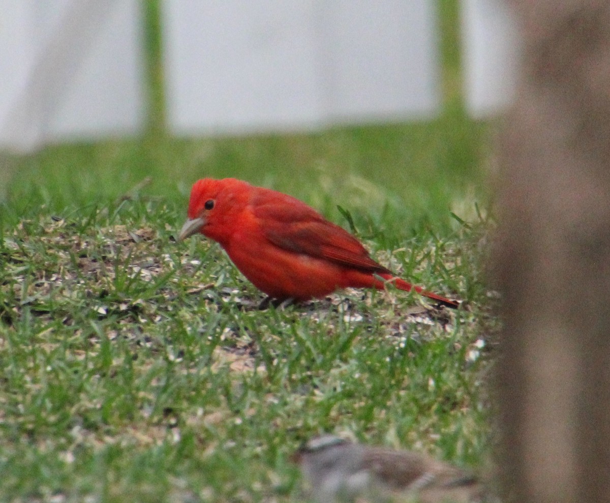
{"type": "MultiPolygon", "coordinates": [[[[141,0],[0,0],[0,147],[135,134],[146,110],[141,0]]],[[[442,1],[442,0],[441,0],[442,1]]],[[[515,27],[501,0],[462,0],[464,93],[509,102],[515,27]]],[[[440,110],[432,0],[162,0],[174,134],[403,121],[440,110]]]]}

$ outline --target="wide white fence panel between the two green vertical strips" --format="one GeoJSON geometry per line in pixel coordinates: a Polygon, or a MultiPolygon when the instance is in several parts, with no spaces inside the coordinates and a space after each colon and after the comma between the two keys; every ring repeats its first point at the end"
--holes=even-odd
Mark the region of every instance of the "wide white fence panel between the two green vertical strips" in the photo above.
{"type": "Polygon", "coordinates": [[[431,117],[428,0],[163,2],[168,117],[178,134],[431,117]]]}

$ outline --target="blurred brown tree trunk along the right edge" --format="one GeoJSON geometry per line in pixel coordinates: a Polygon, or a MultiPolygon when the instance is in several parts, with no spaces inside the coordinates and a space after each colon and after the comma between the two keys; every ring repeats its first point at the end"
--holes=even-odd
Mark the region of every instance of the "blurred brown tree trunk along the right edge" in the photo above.
{"type": "Polygon", "coordinates": [[[501,471],[509,501],[610,501],[610,2],[513,0],[500,139],[501,471]]]}

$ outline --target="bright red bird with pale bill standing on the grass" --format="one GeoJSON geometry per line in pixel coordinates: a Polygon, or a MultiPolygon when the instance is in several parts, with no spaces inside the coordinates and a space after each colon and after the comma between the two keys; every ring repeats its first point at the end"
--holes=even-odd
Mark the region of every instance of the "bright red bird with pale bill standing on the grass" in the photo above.
{"type": "Polygon", "coordinates": [[[302,201],[235,178],[195,182],[179,239],[195,233],[217,241],[237,269],[274,299],[298,302],[339,288],[382,289],[392,283],[458,307],[395,277],[356,237],[302,201]]]}

